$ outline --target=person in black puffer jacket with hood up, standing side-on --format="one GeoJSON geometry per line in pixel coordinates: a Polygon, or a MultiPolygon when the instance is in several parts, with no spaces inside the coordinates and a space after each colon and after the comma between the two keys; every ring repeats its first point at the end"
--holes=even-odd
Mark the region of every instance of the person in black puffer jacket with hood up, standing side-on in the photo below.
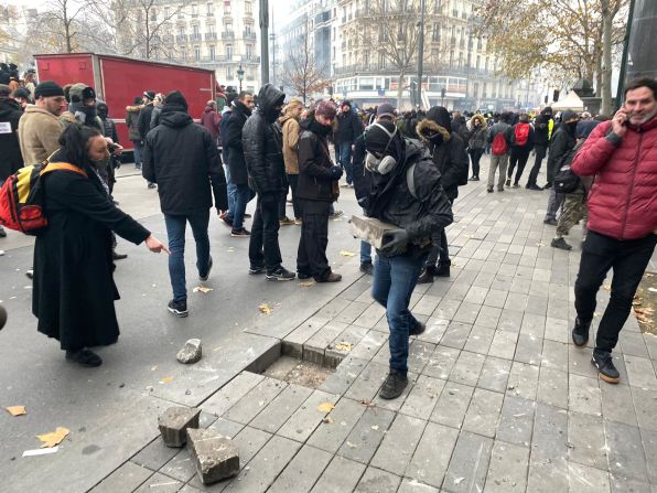
{"type": "MultiPolygon", "coordinates": [[[[288,189],[282,136],[274,127],[286,95],[271,84],[258,93],[258,107],[243,129],[243,147],[249,185],[258,194],[249,242],[249,274],[267,274],[267,280],[289,281],[297,276],[282,266],[278,244],[278,210],[288,189]]],[[[233,118],[233,116],[230,117],[233,118]]]]}

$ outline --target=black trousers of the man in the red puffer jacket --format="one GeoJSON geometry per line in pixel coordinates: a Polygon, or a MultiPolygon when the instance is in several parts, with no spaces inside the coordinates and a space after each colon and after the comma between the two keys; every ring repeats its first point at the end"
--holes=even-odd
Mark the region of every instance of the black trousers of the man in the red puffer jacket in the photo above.
{"type": "Polygon", "coordinates": [[[596,349],[612,351],[616,346],[656,243],[654,234],[624,242],[595,232],[586,235],[575,282],[575,310],[580,321],[593,319],[595,294],[608,270],[614,269],[610,303],[597,328],[596,349]]]}

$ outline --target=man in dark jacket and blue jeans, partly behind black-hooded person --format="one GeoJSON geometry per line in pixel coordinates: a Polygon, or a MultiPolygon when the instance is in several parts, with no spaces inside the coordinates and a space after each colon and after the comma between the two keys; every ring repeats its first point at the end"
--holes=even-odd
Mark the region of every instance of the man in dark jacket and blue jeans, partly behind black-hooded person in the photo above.
{"type": "Polygon", "coordinates": [[[234,203],[224,217],[224,222],[233,227],[230,236],[233,237],[248,237],[250,232],[244,227],[244,215],[246,206],[251,199],[249,190],[249,175],[244,159],[244,148],[241,144],[241,132],[244,124],[249,116],[251,116],[251,108],[254,107],[254,95],[243,90],[238,98],[233,103],[230,117],[226,122],[226,127],[222,130],[222,142],[226,148],[228,156],[228,185],[235,190],[234,203]]]}

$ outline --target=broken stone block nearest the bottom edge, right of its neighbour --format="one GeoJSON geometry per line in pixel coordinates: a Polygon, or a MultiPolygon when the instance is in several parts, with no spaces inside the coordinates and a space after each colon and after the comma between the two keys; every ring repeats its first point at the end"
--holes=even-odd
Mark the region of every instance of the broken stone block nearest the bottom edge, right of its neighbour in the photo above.
{"type": "Polygon", "coordinates": [[[237,447],[216,430],[187,429],[187,450],[203,484],[213,484],[239,472],[237,447]]]}

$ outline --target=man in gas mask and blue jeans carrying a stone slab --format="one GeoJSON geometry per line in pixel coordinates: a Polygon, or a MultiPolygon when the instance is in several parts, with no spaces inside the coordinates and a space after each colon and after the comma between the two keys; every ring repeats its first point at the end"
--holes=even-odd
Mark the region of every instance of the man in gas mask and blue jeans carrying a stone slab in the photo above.
{"type": "Polygon", "coordinates": [[[377,121],[365,135],[365,167],[371,185],[364,201],[367,216],[396,226],[377,251],[373,298],[386,308],[390,369],[379,397],[399,397],[408,385],[409,336],[424,325],[409,311],[411,293],[431,250],[432,236],[453,221],[448,195],[431,157],[402,138],[391,121],[377,121]]]}

